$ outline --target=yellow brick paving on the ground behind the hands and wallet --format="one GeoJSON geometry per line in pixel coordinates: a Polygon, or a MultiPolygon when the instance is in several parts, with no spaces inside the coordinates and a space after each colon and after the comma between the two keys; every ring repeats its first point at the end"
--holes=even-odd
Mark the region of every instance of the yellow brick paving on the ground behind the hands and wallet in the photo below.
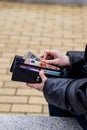
{"type": "Polygon", "coordinates": [[[28,50],[84,50],[87,6],[0,2],[0,113],[48,115],[41,92],[11,81],[13,57],[28,50]]]}

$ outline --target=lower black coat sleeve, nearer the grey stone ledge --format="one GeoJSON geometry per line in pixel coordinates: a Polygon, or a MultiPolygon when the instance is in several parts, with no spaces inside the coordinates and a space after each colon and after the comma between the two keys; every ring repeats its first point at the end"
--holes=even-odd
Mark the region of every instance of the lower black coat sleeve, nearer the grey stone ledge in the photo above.
{"type": "Polygon", "coordinates": [[[74,114],[87,112],[87,78],[49,78],[43,89],[48,103],[74,114]]]}

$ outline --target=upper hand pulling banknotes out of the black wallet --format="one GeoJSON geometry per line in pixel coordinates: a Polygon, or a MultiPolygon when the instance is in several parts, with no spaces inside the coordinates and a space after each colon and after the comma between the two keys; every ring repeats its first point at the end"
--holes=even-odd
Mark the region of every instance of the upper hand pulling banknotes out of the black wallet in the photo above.
{"type": "Polygon", "coordinates": [[[57,50],[45,50],[41,58],[48,64],[70,66],[69,57],[57,50]]]}

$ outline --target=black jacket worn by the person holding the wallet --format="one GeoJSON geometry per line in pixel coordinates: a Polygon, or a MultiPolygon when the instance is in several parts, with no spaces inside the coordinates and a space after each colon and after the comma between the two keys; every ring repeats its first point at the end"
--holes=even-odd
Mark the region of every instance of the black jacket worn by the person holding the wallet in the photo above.
{"type": "Polygon", "coordinates": [[[69,78],[48,78],[43,89],[48,103],[77,115],[87,113],[87,47],[84,52],[67,52],[69,78]]]}

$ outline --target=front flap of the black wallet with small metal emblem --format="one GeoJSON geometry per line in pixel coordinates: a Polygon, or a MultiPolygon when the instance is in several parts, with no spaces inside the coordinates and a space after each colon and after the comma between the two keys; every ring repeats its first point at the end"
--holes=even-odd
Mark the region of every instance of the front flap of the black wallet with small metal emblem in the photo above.
{"type": "Polygon", "coordinates": [[[26,70],[19,67],[15,67],[14,73],[12,74],[12,80],[20,81],[20,82],[27,82],[27,83],[40,83],[41,82],[39,72],[26,70]]]}

